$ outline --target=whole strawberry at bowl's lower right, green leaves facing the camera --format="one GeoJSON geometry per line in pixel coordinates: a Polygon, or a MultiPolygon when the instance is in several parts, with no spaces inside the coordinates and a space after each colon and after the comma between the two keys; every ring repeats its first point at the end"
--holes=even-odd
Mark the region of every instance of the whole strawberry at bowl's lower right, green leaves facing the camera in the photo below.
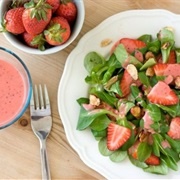
{"type": "Polygon", "coordinates": [[[46,41],[50,45],[57,46],[63,44],[70,37],[70,25],[68,21],[63,17],[53,17],[47,30],[44,31],[44,34],[46,41]]]}

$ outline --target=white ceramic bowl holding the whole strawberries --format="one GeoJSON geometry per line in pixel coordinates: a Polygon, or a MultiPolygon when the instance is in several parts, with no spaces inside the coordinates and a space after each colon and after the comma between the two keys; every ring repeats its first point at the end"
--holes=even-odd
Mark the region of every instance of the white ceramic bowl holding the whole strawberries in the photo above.
{"type": "MultiPolygon", "coordinates": [[[[0,0],[0,21],[2,20],[4,13],[7,11],[8,5],[10,4],[11,0],[0,0]]],[[[30,53],[30,54],[37,54],[37,55],[45,55],[45,54],[53,54],[56,53],[58,51],[63,50],[64,48],[66,48],[68,45],[70,45],[78,36],[78,34],[81,31],[81,28],[83,26],[84,23],[84,17],[85,17],[85,8],[84,8],[84,1],[83,0],[75,0],[74,1],[76,3],[77,6],[77,19],[75,22],[75,25],[73,27],[73,30],[71,32],[71,36],[68,39],[68,41],[66,41],[64,44],[60,45],[60,46],[54,46],[51,47],[49,49],[46,49],[45,51],[40,51],[38,49],[34,49],[31,47],[28,47],[27,45],[25,45],[23,42],[21,42],[15,35],[8,33],[8,32],[4,32],[4,36],[5,38],[16,48],[30,53]]]]}

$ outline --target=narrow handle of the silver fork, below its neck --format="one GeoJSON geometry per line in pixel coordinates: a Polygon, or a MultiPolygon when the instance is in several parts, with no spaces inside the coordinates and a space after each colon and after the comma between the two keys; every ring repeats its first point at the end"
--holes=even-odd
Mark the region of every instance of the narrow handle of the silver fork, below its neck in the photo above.
{"type": "Polygon", "coordinates": [[[40,140],[40,154],[41,154],[42,179],[51,180],[47,151],[46,151],[46,139],[40,140]]]}

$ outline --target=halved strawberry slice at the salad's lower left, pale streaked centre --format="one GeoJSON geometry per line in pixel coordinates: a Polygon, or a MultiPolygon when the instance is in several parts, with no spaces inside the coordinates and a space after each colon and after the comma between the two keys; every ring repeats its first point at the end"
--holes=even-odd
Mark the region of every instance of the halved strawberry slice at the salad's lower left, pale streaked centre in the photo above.
{"type": "Polygon", "coordinates": [[[119,149],[131,137],[131,130],[115,123],[108,125],[107,148],[110,151],[119,149]]]}

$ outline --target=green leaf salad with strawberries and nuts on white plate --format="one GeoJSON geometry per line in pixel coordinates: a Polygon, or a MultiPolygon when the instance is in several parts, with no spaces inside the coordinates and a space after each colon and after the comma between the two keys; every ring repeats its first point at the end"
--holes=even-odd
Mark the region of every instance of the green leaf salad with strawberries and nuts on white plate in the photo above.
{"type": "Polygon", "coordinates": [[[77,130],[89,128],[99,152],[145,172],[168,174],[180,160],[180,49],[174,30],[156,38],[122,38],[108,57],[84,58],[88,97],[80,97],[77,130]]]}

